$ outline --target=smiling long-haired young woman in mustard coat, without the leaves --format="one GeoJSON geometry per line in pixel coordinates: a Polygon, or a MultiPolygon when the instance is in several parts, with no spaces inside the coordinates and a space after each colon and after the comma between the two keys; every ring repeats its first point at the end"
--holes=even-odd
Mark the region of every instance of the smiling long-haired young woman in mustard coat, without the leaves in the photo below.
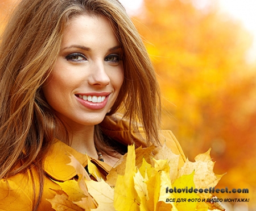
{"type": "Polygon", "coordinates": [[[0,210],[51,210],[54,181],[76,176],[68,153],[105,175],[129,144],[164,139],[183,155],[159,134],[154,69],[117,0],[21,1],[1,39],[0,87],[0,210]]]}

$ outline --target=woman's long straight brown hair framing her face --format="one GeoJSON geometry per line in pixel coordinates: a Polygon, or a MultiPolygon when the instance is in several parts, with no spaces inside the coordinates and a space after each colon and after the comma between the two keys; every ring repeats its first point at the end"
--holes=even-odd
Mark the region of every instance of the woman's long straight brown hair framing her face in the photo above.
{"type": "MultiPolygon", "coordinates": [[[[148,143],[158,141],[158,83],[122,5],[117,0],[24,0],[11,16],[0,45],[0,179],[31,165],[42,179],[42,160],[60,121],[41,87],[59,55],[68,20],[84,13],[108,18],[123,48],[125,80],[110,115],[121,109],[135,129],[143,126],[148,143]]],[[[104,151],[104,140],[97,140],[96,147],[104,151]]]]}

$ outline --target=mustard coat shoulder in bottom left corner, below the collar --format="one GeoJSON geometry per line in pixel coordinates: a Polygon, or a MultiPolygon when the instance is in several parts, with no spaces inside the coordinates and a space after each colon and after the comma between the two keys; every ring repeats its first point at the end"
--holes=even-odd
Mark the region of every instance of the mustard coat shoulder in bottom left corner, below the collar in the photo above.
{"type": "MultiPolygon", "coordinates": [[[[36,169],[32,168],[25,173],[18,173],[7,179],[0,180],[0,210],[5,211],[28,211],[32,210],[35,195],[39,191],[39,180],[36,179],[36,169]],[[31,176],[34,175],[34,176],[31,176]],[[32,180],[32,177],[34,180],[32,180]]],[[[38,210],[53,210],[51,204],[46,200],[53,198],[54,192],[51,189],[60,189],[48,177],[44,178],[44,191],[42,202],[38,210]],[[47,188],[46,188],[47,187],[47,188]]],[[[36,195],[37,197],[38,195],[36,195]]]]}

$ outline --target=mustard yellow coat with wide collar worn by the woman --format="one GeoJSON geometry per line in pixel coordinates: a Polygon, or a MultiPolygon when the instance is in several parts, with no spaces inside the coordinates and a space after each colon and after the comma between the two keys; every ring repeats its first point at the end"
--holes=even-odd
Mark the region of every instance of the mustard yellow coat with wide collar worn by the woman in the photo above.
{"type": "MultiPolygon", "coordinates": [[[[139,134],[133,132],[130,135],[128,133],[126,122],[121,121],[119,118],[105,118],[101,126],[104,127],[104,133],[125,145],[132,144],[131,140],[133,140],[136,146],[146,146],[141,138],[139,138],[141,137],[139,134]]],[[[142,131],[141,133],[143,135],[142,131]]],[[[185,161],[185,156],[181,150],[179,142],[177,142],[171,131],[162,131],[162,142],[166,142],[167,146],[171,148],[172,152],[181,155],[181,166],[185,161]]],[[[60,140],[56,140],[44,162],[44,171],[46,172],[46,176],[44,179],[43,197],[38,210],[53,210],[51,208],[51,204],[46,199],[51,199],[55,196],[55,193],[51,191],[51,189],[60,189],[59,185],[57,185],[54,181],[67,181],[76,176],[75,169],[67,165],[70,163],[68,154],[75,156],[82,166],[85,167],[87,165],[86,155],[77,152],[60,140]]],[[[101,171],[105,171],[106,173],[110,171],[111,167],[108,166],[108,164],[97,160],[95,160],[95,162],[97,162],[97,166],[101,169],[101,171]]],[[[35,169],[32,169],[32,175],[33,172],[35,173],[35,171],[35,169]]],[[[36,191],[38,191],[39,181],[36,180],[35,183],[36,191]]],[[[19,173],[18,175],[9,177],[7,180],[0,180],[0,210],[32,210],[33,198],[34,188],[32,186],[31,174],[29,172],[26,174],[19,173]]]]}

